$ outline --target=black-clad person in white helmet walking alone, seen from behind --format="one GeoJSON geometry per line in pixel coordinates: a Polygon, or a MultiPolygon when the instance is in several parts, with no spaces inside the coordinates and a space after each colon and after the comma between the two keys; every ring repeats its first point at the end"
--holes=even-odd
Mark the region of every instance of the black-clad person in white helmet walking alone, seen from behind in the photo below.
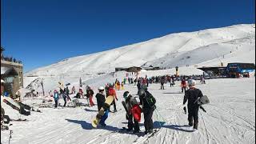
{"type": "Polygon", "coordinates": [[[198,130],[199,105],[198,105],[198,102],[196,101],[198,100],[198,98],[201,98],[203,95],[201,90],[194,87],[195,85],[194,79],[189,79],[188,84],[190,89],[186,90],[186,93],[183,99],[183,105],[185,105],[186,101],[188,101],[187,107],[188,107],[188,113],[189,113],[188,114],[189,125],[194,126],[194,130],[198,130]],[[194,123],[193,123],[193,120],[194,120],[194,123]]]}

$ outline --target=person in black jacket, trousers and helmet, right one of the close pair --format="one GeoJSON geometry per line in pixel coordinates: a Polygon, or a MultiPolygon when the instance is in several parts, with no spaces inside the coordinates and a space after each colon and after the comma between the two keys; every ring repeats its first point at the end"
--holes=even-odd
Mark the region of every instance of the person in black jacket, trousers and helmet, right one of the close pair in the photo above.
{"type": "Polygon", "coordinates": [[[147,88],[138,90],[138,96],[140,104],[142,105],[142,112],[144,113],[145,134],[152,133],[154,129],[152,115],[156,109],[156,100],[153,95],[147,91],[147,88]]]}

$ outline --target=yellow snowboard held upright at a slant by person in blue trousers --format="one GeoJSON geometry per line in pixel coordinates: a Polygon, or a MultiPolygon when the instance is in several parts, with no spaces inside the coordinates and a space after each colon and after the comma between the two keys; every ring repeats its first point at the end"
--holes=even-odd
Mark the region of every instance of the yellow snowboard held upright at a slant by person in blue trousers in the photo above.
{"type": "Polygon", "coordinates": [[[91,122],[91,126],[96,128],[98,126],[98,123],[101,121],[102,116],[105,114],[106,110],[110,109],[110,104],[114,101],[114,96],[109,95],[104,103],[104,106],[102,106],[101,110],[98,111],[98,114],[96,115],[96,118],[93,119],[91,122]]]}

